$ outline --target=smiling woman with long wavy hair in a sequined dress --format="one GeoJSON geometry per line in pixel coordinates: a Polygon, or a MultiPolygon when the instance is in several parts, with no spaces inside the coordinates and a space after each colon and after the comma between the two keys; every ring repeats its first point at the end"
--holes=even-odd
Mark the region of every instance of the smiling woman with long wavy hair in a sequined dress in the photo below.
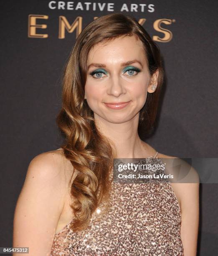
{"type": "Polygon", "coordinates": [[[196,255],[198,183],[112,179],[114,158],[172,157],[141,139],[162,82],[159,48],[137,20],[114,13],[84,28],[63,77],[65,142],[30,162],[13,246],[30,255],[196,255]]]}

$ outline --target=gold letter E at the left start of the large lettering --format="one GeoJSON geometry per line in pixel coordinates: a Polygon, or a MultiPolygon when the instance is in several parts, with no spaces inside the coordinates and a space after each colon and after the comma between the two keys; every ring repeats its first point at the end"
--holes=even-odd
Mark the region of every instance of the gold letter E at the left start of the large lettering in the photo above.
{"type": "Polygon", "coordinates": [[[48,15],[37,15],[29,14],[28,15],[28,37],[34,38],[47,38],[48,34],[37,34],[36,28],[47,28],[46,24],[36,24],[37,19],[48,19],[48,15]]]}

